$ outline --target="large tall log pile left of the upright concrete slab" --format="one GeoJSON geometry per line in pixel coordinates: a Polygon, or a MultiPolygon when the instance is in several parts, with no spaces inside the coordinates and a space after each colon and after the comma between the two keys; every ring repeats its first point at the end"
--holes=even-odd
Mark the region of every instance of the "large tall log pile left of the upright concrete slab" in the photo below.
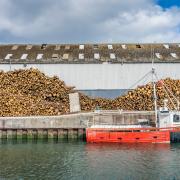
{"type": "Polygon", "coordinates": [[[70,92],[72,87],[36,69],[0,72],[0,116],[68,113],[70,92]]]}

